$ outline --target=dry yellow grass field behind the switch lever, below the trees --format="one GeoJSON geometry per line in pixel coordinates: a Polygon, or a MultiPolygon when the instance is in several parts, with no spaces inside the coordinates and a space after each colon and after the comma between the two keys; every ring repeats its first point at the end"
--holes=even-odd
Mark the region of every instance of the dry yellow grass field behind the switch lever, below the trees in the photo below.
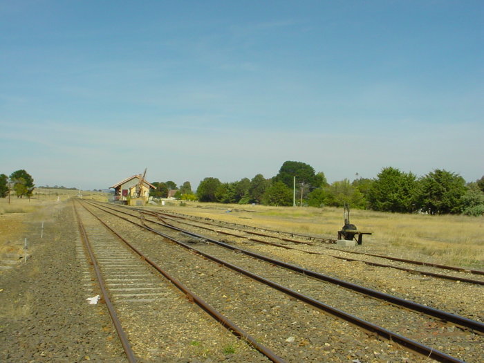
{"type": "MultiPolygon", "coordinates": [[[[320,234],[335,238],[344,220],[332,207],[266,207],[215,203],[171,203],[165,208],[218,220],[263,226],[274,230],[320,234]],[[232,212],[226,213],[232,209],[232,212]]],[[[484,217],[429,216],[351,210],[351,223],[364,236],[364,247],[374,252],[454,266],[484,269],[484,217]]]]}

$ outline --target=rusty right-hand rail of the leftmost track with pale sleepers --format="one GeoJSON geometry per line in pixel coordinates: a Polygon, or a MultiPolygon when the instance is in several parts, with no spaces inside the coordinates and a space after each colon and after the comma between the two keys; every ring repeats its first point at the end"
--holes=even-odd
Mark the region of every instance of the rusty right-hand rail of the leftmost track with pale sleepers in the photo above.
{"type": "MultiPolygon", "coordinates": [[[[81,203],[81,205],[86,209],[89,213],[91,213],[95,218],[97,218],[104,227],[106,227],[107,230],[109,230],[111,233],[113,233],[115,236],[117,236],[121,241],[123,241],[133,252],[138,254],[142,260],[144,260],[146,263],[148,263],[151,267],[153,267],[155,270],[160,272],[168,281],[173,283],[180,291],[182,291],[185,296],[189,299],[189,301],[194,301],[198,306],[200,306],[205,312],[207,312],[210,316],[214,317],[216,321],[218,321],[222,326],[227,328],[228,331],[230,331],[232,334],[234,334],[236,337],[239,337],[239,339],[244,340],[247,342],[250,346],[254,347],[257,349],[257,351],[261,352],[263,355],[266,355],[272,362],[275,363],[285,363],[286,361],[283,360],[283,358],[279,357],[276,353],[271,351],[269,348],[266,346],[263,346],[257,340],[249,335],[247,332],[245,332],[242,328],[234,324],[234,322],[230,321],[227,317],[222,315],[221,313],[218,313],[218,311],[213,308],[210,304],[208,304],[205,300],[201,299],[201,297],[198,297],[198,295],[195,295],[193,292],[191,292],[186,286],[183,285],[178,279],[175,277],[171,276],[167,271],[163,270],[158,266],[154,261],[149,259],[148,257],[145,256],[140,250],[138,250],[135,246],[133,246],[131,243],[129,243],[126,239],[124,239],[118,232],[115,232],[113,228],[109,227],[104,221],[101,220],[98,216],[96,216],[93,212],[91,212],[85,205],[81,203]]],[[[95,206],[97,207],[97,206],[95,206]]],[[[99,207],[97,207],[99,208],[99,207]]],[[[104,211],[106,212],[106,211],[104,211]]],[[[108,212],[110,213],[110,212],[108,212]]],[[[118,216],[119,218],[122,218],[118,216]]],[[[137,223],[135,223],[137,224],[137,223]]],[[[142,226],[142,225],[140,225],[142,226]]]]}

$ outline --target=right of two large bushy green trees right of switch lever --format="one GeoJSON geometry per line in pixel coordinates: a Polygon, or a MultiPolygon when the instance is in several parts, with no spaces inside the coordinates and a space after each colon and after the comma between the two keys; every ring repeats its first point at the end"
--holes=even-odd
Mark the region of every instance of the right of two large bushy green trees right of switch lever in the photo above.
{"type": "Polygon", "coordinates": [[[460,213],[466,190],[462,176],[436,169],[420,178],[418,205],[429,214],[460,213]]]}

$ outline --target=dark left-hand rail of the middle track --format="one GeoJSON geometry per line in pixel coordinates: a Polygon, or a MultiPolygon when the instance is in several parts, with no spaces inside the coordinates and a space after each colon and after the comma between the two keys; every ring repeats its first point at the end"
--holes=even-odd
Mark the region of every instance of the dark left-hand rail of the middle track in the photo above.
{"type": "MultiPolygon", "coordinates": [[[[102,210],[99,206],[96,206],[96,207],[99,208],[100,210],[102,210]]],[[[366,320],[363,320],[363,319],[360,319],[359,317],[355,317],[354,315],[348,314],[348,313],[344,312],[343,310],[333,308],[333,306],[329,306],[327,304],[324,304],[324,303],[322,303],[322,301],[313,299],[312,297],[308,297],[307,295],[303,295],[300,292],[296,292],[295,290],[291,290],[289,288],[281,286],[279,283],[276,283],[274,281],[270,281],[269,279],[261,277],[261,276],[254,274],[254,273],[252,273],[248,270],[245,270],[243,268],[239,268],[238,266],[235,266],[232,263],[229,263],[227,261],[223,261],[221,259],[218,259],[217,257],[212,256],[211,254],[207,254],[207,253],[205,253],[201,250],[198,250],[197,248],[194,248],[191,245],[187,245],[186,243],[178,241],[173,236],[169,236],[168,234],[162,233],[158,230],[154,230],[153,228],[145,225],[144,220],[142,218],[140,218],[140,220],[142,221],[142,223],[140,224],[140,223],[130,221],[128,218],[124,218],[123,216],[113,214],[112,212],[109,212],[109,211],[106,211],[106,210],[103,210],[103,211],[106,212],[106,213],[112,214],[113,216],[117,216],[118,218],[121,218],[124,221],[128,221],[129,223],[137,225],[138,227],[145,228],[146,230],[149,230],[150,232],[158,234],[159,236],[162,236],[165,239],[169,239],[170,241],[177,243],[178,245],[180,245],[183,248],[186,248],[189,251],[196,252],[197,254],[200,254],[201,256],[203,256],[207,259],[210,259],[210,260],[212,260],[212,261],[214,261],[214,262],[216,262],[216,263],[218,263],[222,266],[225,266],[225,267],[230,268],[230,269],[232,269],[236,272],[244,274],[245,276],[248,276],[248,277],[250,277],[250,278],[252,278],[256,281],[259,281],[261,283],[265,283],[267,286],[270,286],[270,287],[272,287],[276,290],[279,290],[279,291],[281,291],[281,292],[283,292],[286,295],[289,295],[291,297],[295,297],[296,299],[299,299],[300,301],[304,301],[306,304],[313,306],[315,308],[319,308],[319,309],[325,311],[326,313],[334,315],[335,317],[339,317],[340,319],[344,319],[347,322],[354,324],[355,326],[359,326],[360,328],[363,328],[364,330],[369,331],[370,333],[380,335],[380,337],[384,337],[385,339],[388,339],[391,342],[401,344],[402,346],[409,348],[411,351],[415,351],[416,353],[420,353],[422,355],[430,357],[431,359],[437,360],[438,362],[446,362],[446,363],[447,362],[449,362],[449,363],[450,362],[453,362],[453,363],[459,362],[459,363],[463,363],[462,360],[459,360],[456,357],[452,357],[451,355],[447,355],[447,354],[445,354],[441,351],[438,351],[434,348],[420,344],[419,342],[416,342],[413,339],[409,339],[409,338],[404,337],[402,335],[399,335],[397,333],[393,333],[392,331],[389,331],[388,329],[382,328],[381,326],[378,326],[378,325],[373,324],[371,322],[366,322],[366,320]]],[[[122,213],[124,213],[124,212],[122,212],[122,213]]],[[[178,231],[178,232],[180,232],[180,231],[178,231]]],[[[206,239],[205,237],[203,237],[203,238],[206,239]]],[[[237,248],[234,248],[234,250],[236,250],[237,252],[241,251],[237,248]]]]}

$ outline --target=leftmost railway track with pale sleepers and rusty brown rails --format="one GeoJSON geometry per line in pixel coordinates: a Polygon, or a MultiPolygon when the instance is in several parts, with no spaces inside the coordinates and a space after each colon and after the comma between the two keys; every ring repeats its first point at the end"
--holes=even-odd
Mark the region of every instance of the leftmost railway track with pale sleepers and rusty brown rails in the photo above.
{"type": "MultiPolygon", "coordinates": [[[[221,342],[227,347],[237,346],[238,349],[248,343],[273,362],[284,362],[156,266],[91,211],[80,206],[75,211],[100,286],[101,301],[109,310],[129,362],[136,362],[138,357],[143,361],[158,360],[160,357],[169,360],[183,357],[190,350],[194,355],[203,356],[212,349],[203,348],[205,351],[200,351],[198,346],[221,342]],[[174,286],[183,293],[180,294],[174,286]],[[194,309],[192,303],[201,306],[221,326],[242,338],[243,342],[236,343],[232,335],[221,333],[219,326],[201,315],[201,311],[194,309]],[[177,330],[178,333],[174,334],[177,330]],[[180,339],[186,342],[180,344],[180,339]]],[[[249,350],[244,356],[254,362],[264,361],[259,354],[249,350]]]]}

